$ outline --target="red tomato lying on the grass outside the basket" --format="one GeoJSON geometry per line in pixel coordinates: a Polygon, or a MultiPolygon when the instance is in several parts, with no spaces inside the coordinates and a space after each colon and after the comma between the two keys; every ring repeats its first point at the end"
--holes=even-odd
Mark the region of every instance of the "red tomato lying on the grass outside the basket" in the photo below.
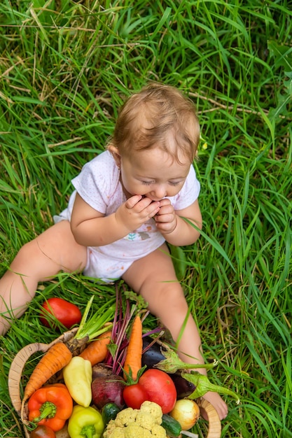
{"type": "Polygon", "coordinates": [[[49,298],[43,302],[42,308],[44,311],[41,312],[40,319],[41,323],[46,325],[46,327],[53,326],[53,320],[50,320],[47,312],[55,316],[68,329],[81,321],[81,311],[78,307],[62,298],[49,298]]]}

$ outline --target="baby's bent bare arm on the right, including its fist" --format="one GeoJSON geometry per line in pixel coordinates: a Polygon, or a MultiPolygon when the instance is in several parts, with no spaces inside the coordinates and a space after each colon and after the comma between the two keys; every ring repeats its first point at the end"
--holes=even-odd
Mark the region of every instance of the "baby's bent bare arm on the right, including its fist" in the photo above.
{"type": "Polygon", "coordinates": [[[200,232],[183,218],[202,229],[202,215],[197,200],[179,211],[174,211],[169,199],[160,201],[160,209],[155,216],[156,227],[168,243],[175,246],[191,245],[199,238],[200,232]]]}

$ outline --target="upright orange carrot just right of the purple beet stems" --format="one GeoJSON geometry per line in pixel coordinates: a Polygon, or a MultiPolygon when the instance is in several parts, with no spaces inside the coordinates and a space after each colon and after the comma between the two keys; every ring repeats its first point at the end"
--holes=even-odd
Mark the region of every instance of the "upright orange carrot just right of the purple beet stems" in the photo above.
{"type": "Polygon", "coordinates": [[[138,371],[142,366],[142,351],[142,322],[140,316],[137,315],[132,325],[129,345],[127,346],[127,353],[124,363],[124,379],[127,379],[127,374],[130,374],[130,369],[132,372],[132,378],[134,380],[137,379],[138,371]]]}

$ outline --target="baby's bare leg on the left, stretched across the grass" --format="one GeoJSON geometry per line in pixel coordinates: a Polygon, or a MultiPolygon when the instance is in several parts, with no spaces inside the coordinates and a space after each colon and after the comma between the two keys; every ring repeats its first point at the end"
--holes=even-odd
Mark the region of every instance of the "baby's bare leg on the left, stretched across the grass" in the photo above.
{"type": "Polygon", "coordinates": [[[60,271],[82,270],[85,264],[86,248],[76,243],[67,220],[22,246],[0,279],[0,315],[4,316],[0,316],[0,334],[10,327],[10,317],[19,318],[25,312],[39,281],[60,271]]]}

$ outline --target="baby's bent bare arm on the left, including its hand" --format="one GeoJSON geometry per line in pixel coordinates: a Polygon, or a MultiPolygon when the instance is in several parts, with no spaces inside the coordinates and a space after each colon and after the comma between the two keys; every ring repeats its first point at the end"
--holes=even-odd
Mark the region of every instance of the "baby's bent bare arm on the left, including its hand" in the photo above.
{"type": "Polygon", "coordinates": [[[77,194],[71,215],[71,231],[80,245],[108,245],[139,228],[158,210],[159,202],[135,195],[120,205],[115,213],[104,216],[77,194]]]}

